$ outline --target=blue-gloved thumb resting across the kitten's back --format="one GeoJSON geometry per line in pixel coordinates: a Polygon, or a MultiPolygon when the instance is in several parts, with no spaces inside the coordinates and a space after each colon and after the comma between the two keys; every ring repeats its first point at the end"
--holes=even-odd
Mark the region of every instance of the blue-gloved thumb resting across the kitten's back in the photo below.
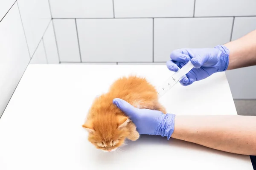
{"type": "Polygon", "coordinates": [[[123,99],[113,99],[113,104],[116,105],[122,112],[124,112],[128,117],[132,119],[134,114],[137,113],[138,108],[134,108],[130,103],[126,102],[123,99]]]}

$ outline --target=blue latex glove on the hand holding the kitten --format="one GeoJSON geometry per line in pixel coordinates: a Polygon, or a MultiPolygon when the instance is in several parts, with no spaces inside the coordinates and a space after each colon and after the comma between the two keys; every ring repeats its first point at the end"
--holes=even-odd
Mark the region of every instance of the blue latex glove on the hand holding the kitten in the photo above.
{"type": "Polygon", "coordinates": [[[118,98],[113,99],[113,104],[134,122],[140,134],[167,136],[168,140],[172,136],[175,114],[134,108],[128,102],[118,98]]]}

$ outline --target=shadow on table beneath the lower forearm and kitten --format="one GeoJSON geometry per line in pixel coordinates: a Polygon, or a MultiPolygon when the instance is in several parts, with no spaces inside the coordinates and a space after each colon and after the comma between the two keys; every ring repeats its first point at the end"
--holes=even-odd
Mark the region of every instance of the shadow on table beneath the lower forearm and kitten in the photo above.
{"type": "MultiPolygon", "coordinates": [[[[224,156],[224,157],[231,157],[233,159],[239,159],[239,160],[244,160],[247,161],[248,158],[247,156],[244,155],[239,155],[239,154],[234,154],[234,153],[227,153],[227,152],[223,152],[220,150],[215,150],[215,149],[211,149],[209,147],[204,147],[201,146],[199,144],[195,144],[195,143],[191,143],[191,142],[186,142],[186,141],[182,141],[182,140],[178,140],[178,139],[170,139],[169,141],[166,138],[160,137],[160,136],[147,136],[147,135],[143,135],[140,137],[139,140],[133,142],[128,140],[127,141],[127,145],[124,147],[120,147],[121,150],[117,150],[117,152],[111,152],[111,153],[102,153],[99,154],[98,159],[101,160],[102,163],[113,163],[113,160],[116,161],[116,159],[120,159],[120,157],[122,157],[124,154],[137,154],[136,150],[143,150],[143,147],[145,148],[152,148],[155,147],[156,150],[159,149],[160,146],[162,147],[162,150],[159,151],[160,153],[166,150],[170,150],[173,151],[173,149],[175,148],[175,150],[177,150],[177,148],[179,148],[179,150],[181,150],[184,154],[192,154],[194,152],[196,152],[197,154],[214,154],[217,156],[224,156]],[[163,148],[163,146],[165,146],[163,148]],[[170,148],[169,148],[170,147],[170,148]]],[[[154,148],[153,148],[154,149],[154,148]]],[[[150,154],[151,150],[148,150],[149,153],[145,153],[145,154],[150,154]]],[[[102,152],[102,151],[101,151],[102,152]]],[[[145,150],[146,152],[146,150],[145,150]]],[[[157,153],[154,153],[157,154],[157,153]]]]}

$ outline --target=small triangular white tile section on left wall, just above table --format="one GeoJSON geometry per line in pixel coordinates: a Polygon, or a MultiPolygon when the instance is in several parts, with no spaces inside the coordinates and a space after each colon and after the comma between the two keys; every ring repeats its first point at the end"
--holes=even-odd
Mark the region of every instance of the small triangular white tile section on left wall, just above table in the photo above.
{"type": "Polygon", "coordinates": [[[44,50],[44,42],[41,40],[31,58],[29,64],[47,64],[47,57],[44,50]]]}

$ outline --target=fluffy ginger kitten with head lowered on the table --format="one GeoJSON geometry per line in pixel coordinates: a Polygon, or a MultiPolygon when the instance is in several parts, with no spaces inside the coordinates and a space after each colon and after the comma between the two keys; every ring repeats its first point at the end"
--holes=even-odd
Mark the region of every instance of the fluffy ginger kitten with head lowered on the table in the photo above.
{"type": "Polygon", "coordinates": [[[134,123],[113,105],[114,98],[124,99],[136,108],[166,113],[158,102],[156,89],[146,79],[137,76],[117,79],[108,93],[94,100],[87,120],[82,125],[89,132],[89,142],[96,148],[109,152],[122,146],[126,138],[136,141],[140,137],[134,123]]]}

